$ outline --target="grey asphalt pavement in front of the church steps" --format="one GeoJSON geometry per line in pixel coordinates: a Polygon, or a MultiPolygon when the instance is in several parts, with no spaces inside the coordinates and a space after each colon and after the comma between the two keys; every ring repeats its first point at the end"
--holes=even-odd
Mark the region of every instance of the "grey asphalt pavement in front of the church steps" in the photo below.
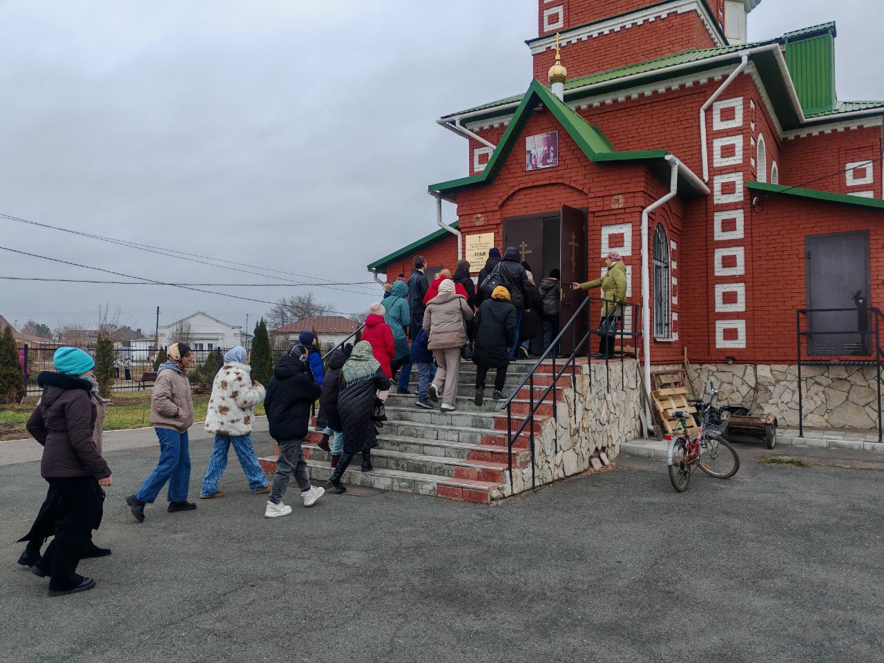
{"type": "MultiPolygon", "coordinates": [[[[117,448],[95,533],[113,554],[80,564],[95,590],[62,598],[16,564],[39,463],[0,462],[0,660],[884,659],[880,456],[739,448],[733,479],[683,494],[659,461],[621,457],[492,507],[383,492],[305,509],[295,488],[277,520],[231,453],[224,498],[157,503],[143,524],[123,497],[156,447],[117,448]]],[[[210,440],[192,451],[193,499],[210,440]]]]}

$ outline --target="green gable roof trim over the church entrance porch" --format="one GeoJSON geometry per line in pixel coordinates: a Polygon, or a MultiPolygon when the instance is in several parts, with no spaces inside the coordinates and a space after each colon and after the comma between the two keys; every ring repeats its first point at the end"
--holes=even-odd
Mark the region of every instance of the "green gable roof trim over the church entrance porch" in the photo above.
{"type": "Polygon", "coordinates": [[[531,111],[537,103],[543,103],[552,112],[568,135],[577,143],[577,147],[593,163],[639,162],[660,159],[667,155],[665,149],[617,152],[598,126],[591,125],[574,110],[568,108],[567,104],[561,102],[559,97],[553,95],[540,81],[532,80],[528,92],[522,96],[522,103],[519,104],[518,110],[515,111],[513,119],[507,126],[507,131],[504,132],[497,149],[494,150],[491,159],[485,165],[485,170],[468,178],[431,184],[428,187],[429,190],[441,194],[453,194],[464,188],[478,187],[493,182],[503,164],[506,163],[507,157],[512,153],[515,143],[521,135],[522,129],[528,123],[531,111]]]}

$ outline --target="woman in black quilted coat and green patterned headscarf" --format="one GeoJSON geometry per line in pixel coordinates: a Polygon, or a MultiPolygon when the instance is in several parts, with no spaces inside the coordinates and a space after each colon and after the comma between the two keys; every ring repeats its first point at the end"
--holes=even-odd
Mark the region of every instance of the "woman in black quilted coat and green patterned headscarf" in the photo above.
{"type": "Polygon", "coordinates": [[[338,415],[344,431],[344,453],[331,474],[329,485],[332,492],[346,492],[341,476],[347,470],[356,453],[362,453],[362,471],[371,470],[371,449],[377,446],[377,429],[371,421],[377,392],[390,388],[390,378],[375,359],[371,344],[362,340],[340,371],[338,415]]]}

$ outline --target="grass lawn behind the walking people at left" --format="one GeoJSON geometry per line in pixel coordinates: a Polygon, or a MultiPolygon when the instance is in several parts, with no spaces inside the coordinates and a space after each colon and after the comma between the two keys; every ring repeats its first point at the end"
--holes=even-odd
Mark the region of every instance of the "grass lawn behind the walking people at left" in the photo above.
{"type": "MultiPolygon", "coordinates": [[[[28,396],[21,405],[0,406],[0,441],[27,438],[25,424],[34,412],[39,396],[28,396]]],[[[105,431],[128,431],[150,425],[150,392],[114,392],[104,417],[105,431]]],[[[209,407],[209,396],[194,394],[194,421],[202,422],[209,407]]],[[[264,415],[263,403],[255,408],[264,415]]]]}

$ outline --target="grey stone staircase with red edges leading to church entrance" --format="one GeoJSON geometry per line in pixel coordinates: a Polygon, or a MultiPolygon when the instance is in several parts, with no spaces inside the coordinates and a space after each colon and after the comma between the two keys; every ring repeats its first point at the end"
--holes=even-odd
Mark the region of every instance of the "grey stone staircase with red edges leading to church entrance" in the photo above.
{"type": "MultiPolygon", "coordinates": [[[[512,392],[528,373],[534,362],[514,362],[507,373],[505,394],[512,392]]],[[[491,376],[493,377],[493,372],[491,376]]],[[[374,469],[362,472],[357,455],[344,473],[343,483],[370,486],[382,490],[437,495],[489,504],[508,494],[507,413],[502,402],[492,400],[493,388],[485,390],[483,405],[473,402],[476,389],[476,366],[464,363],[458,386],[456,411],[415,407],[417,370],[412,371],[411,395],[392,390],[387,400],[387,419],[378,432],[377,449],[371,452],[374,469]]],[[[492,384],[490,382],[489,384],[492,384]]],[[[552,362],[535,373],[535,392],[539,397],[552,384],[552,362]]],[[[571,377],[561,377],[558,386],[570,386],[571,377]]],[[[557,391],[559,400],[561,392],[557,391]]],[[[530,411],[530,390],[523,387],[513,401],[514,430],[522,425],[530,411]]],[[[543,423],[552,417],[552,394],[535,415],[534,431],[539,435],[543,423]]],[[[311,422],[315,424],[314,422],[311,422]]],[[[320,432],[311,430],[304,446],[310,476],[315,482],[331,476],[330,454],[316,443],[320,432]]],[[[260,459],[267,472],[276,471],[276,458],[260,459]]],[[[514,468],[530,467],[528,429],[516,440],[513,449],[514,468]]]]}

